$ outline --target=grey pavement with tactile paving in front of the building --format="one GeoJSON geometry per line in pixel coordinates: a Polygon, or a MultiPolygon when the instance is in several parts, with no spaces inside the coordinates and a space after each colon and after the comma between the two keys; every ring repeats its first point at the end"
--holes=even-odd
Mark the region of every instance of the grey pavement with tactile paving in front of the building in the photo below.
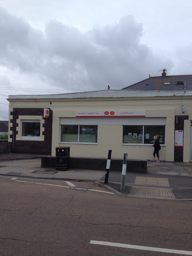
{"type": "Polygon", "coordinates": [[[192,162],[147,161],[147,173],[126,171],[124,190],[120,191],[121,172],[105,170],[41,168],[39,154],[0,154],[0,175],[99,182],[117,193],[133,197],[192,200],[192,162]]]}

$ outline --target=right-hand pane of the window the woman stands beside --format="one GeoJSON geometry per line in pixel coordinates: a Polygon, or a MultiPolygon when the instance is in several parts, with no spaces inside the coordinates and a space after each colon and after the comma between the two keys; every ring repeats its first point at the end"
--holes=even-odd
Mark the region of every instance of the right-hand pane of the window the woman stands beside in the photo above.
{"type": "Polygon", "coordinates": [[[162,125],[144,125],[144,144],[153,144],[154,136],[157,136],[159,143],[164,144],[165,129],[162,125]]]}

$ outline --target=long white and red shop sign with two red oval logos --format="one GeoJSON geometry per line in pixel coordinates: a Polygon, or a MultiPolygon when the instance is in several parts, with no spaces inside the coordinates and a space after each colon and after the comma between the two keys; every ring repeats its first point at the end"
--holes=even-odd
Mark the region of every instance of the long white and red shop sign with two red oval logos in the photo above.
{"type": "Polygon", "coordinates": [[[126,117],[145,116],[145,110],[98,110],[98,111],[76,111],[76,117],[126,117]]]}

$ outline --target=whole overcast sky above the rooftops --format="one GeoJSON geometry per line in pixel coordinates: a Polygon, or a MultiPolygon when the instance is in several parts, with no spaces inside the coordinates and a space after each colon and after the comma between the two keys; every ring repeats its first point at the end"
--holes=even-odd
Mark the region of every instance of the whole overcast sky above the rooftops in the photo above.
{"type": "Polygon", "coordinates": [[[191,0],[0,0],[0,120],[8,95],[192,74],[191,13],[191,0]]]}

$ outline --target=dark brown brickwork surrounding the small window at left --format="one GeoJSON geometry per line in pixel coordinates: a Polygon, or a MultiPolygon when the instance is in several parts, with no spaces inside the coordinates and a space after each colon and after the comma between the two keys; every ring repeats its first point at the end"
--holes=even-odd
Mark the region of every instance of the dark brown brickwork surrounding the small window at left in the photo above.
{"type": "MultiPolygon", "coordinates": [[[[51,154],[52,144],[52,110],[49,111],[49,118],[44,119],[44,141],[35,140],[15,140],[16,127],[18,126],[17,119],[19,115],[41,115],[43,116],[43,108],[13,108],[12,127],[14,132],[13,152],[15,153],[36,153],[36,154],[51,154]]],[[[13,135],[10,135],[13,137],[13,135]]]]}

